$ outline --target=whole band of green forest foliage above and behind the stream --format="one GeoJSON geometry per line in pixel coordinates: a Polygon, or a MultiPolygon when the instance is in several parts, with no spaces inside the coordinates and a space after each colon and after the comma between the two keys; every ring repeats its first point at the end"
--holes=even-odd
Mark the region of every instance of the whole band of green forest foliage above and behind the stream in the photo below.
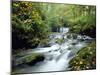
{"type": "Polygon", "coordinates": [[[88,5],[12,2],[12,48],[46,44],[48,33],[70,32],[96,37],[96,7],[88,5]]]}

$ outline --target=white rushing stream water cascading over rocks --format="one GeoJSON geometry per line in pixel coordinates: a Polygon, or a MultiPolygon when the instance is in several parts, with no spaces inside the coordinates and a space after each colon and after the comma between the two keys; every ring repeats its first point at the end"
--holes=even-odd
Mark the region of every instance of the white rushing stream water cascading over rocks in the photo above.
{"type": "MultiPolygon", "coordinates": [[[[40,47],[30,50],[26,54],[41,53],[44,54],[45,60],[36,63],[34,66],[18,68],[19,73],[31,72],[51,72],[69,70],[69,61],[83,47],[91,42],[92,38],[85,35],[68,33],[69,28],[61,28],[60,33],[54,33],[49,36],[50,47],[40,47]],[[61,44],[56,43],[57,39],[63,39],[61,44]]],[[[25,54],[25,53],[24,53],[25,54]]],[[[21,61],[25,56],[18,58],[21,61]]]]}

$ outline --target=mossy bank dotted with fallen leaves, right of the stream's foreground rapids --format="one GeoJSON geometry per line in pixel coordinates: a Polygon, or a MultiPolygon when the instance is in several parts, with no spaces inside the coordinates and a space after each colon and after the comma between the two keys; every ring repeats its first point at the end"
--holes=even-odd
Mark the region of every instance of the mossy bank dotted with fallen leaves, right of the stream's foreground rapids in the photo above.
{"type": "Polygon", "coordinates": [[[81,49],[69,62],[71,70],[88,70],[96,68],[96,43],[92,42],[81,49]]]}

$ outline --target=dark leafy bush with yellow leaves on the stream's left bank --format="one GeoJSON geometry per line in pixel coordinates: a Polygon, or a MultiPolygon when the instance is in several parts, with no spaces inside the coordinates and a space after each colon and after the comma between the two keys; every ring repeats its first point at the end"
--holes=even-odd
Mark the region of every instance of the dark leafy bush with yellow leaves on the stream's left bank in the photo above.
{"type": "MultiPolygon", "coordinates": [[[[41,4],[40,4],[41,5],[41,4]]],[[[47,26],[40,6],[32,2],[12,3],[12,47],[36,47],[47,38],[47,26]]]]}

